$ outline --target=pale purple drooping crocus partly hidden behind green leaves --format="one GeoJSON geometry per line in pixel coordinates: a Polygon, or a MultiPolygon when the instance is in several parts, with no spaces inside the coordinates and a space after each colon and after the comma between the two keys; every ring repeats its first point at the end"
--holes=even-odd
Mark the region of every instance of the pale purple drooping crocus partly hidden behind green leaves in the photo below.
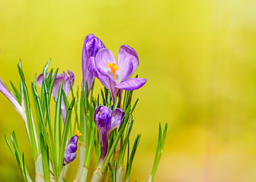
{"type": "MultiPolygon", "coordinates": [[[[53,92],[52,92],[54,99],[58,99],[59,86],[62,83],[62,81],[63,81],[62,89],[64,90],[66,97],[69,98],[69,91],[70,91],[69,81],[71,82],[71,84],[73,86],[74,81],[75,81],[75,76],[72,73],[72,71],[69,71],[69,70],[68,70],[68,74],[69,74],[69,76],[63,71],[62,74],[56,75],[55,83],[53,86],[53,92]]],[[[48,73],[47,73],[47,75],[48,75],[48,73]]],[[[42,83],[43,83],[43,74],[40,74],[39,77],[37,78],[37,84],[39,86],[42,86],[42,83]]],[[[65,123],[65,121],[66,121],[66,106],[65,106],[63,99],[62,99],[62,103],[61,103],[61,111],[62,111],[62,119],[63,119],[63,122],[65,123]]]]}

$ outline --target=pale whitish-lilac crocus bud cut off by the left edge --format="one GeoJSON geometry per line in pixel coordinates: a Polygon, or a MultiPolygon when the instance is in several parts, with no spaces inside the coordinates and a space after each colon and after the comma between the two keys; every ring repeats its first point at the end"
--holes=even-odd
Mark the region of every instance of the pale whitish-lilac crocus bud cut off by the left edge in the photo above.
{"type": "MultiPolygon", "coordinates": [[[[24,101],[23,98],[21,99],[21,104],[14,98],[14,96],[11,95],[11,93],[9,93],[8,89],[6,89],[5,84],[2,82],[2,80],[0,79],[0,92],[3,93],[7,99],[9,99],[9,101],[11,102],[11,104],[14,106],[15,110],[18,111],[18,114],[21,115],[21,118],[23,119],[26,129],[27,129],[27,133],[28,133],[28,126],[27,126],[27,117],[26,117],[26,111],[25,111],[25,105],[24,105],[24,101]]],[[[29,136],[29,134],[28,134],[29,136]]]]}

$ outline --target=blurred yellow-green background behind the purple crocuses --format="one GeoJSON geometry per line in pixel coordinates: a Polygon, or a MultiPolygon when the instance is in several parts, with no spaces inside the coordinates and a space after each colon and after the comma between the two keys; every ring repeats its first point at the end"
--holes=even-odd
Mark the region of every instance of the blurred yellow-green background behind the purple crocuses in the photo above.
{"type": "MultiPolygon", "coordinates": [[[[130,181],[148,180],[159,122],[168,134],[155,181],[256,181],[255,9],[253,0],[0,0],[0,77],[18,85],[21,58],[29,83],[52,58],[80,85],[88,33],[116,56],[130,45],[148,79],[134,93],[132,138],[142,138],[130,181]]],[[[33,176],[24,123],[0,94],[0,181],[21,181],[4,138],[12,130],[33,176]]]]}

